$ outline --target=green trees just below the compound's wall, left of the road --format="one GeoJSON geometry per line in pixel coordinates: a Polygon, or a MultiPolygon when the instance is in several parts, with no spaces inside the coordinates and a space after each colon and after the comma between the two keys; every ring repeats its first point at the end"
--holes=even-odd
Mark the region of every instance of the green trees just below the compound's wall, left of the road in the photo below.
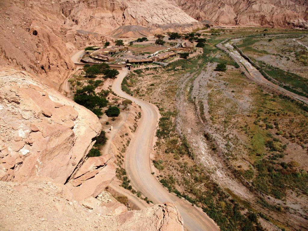
{"type": "Polygon", "coordinates": [[[103,74],[104,78],[115,79],[116,75],[119,75],[119,71],[115,69],[110,69],[107,63],[84,65],[84,71],[86,72],[85,77],[96,78],[96,75],[103,74]]]}

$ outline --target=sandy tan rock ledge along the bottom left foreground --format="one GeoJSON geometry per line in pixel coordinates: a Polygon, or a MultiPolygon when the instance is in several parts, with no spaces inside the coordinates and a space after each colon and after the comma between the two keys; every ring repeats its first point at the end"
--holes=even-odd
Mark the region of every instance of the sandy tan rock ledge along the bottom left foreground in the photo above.
{"type": "Polygon", "coordinates": [[[0,181],[2,230],[183,231],[183,220],[172,203],[127,211],[109,193],[72,200],[63,184],[0,181]]]}

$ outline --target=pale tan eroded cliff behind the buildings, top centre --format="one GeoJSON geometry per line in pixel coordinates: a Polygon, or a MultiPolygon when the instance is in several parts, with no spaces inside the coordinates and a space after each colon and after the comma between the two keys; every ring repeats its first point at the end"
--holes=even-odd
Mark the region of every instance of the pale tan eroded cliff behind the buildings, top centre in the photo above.
{"type": "Polygon", "coordinates": [[[73,29],[110,33],[127,25],[157,27],[167,24],[190,24],[188,16],[173,0],[78,0],[61,1],[65,24],[73,29]]]}

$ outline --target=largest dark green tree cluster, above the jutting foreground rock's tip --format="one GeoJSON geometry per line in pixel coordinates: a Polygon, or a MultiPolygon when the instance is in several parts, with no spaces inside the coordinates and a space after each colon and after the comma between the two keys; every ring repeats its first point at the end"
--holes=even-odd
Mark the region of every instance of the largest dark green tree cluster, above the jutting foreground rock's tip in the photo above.
{"type": "Polygon", "coordinates": [[[107,106],[108,100],[95,93],[95,88],[98,84],[94,84],[89,84],[82,89],[78,89],[74,95],[74,101],[99,117],[103,115],[102,107],[107,106]]]}

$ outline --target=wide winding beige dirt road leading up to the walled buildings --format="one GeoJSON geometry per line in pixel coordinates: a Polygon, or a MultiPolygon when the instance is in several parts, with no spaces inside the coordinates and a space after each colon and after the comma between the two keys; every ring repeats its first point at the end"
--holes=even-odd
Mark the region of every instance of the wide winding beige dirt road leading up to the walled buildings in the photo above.
{"type": "Polygon", "coordinates": [[[190,231],[220,230],[215,222],[200,208],[192,206],[188,201],[169,193],[151,174],[150,150],[152,148],[159,111],[151,103],[137,99],[121,90],[121,83],[128,70],[120,71],[118,78],[112,84],[112,91],[121,97],[130,99],[141,106],[142,116],[136,130],[136,136],[127,149],[125,169],[132,186],[156,203],[170,201],[176,204],[184,220],[184,226],[190,231]]]}

